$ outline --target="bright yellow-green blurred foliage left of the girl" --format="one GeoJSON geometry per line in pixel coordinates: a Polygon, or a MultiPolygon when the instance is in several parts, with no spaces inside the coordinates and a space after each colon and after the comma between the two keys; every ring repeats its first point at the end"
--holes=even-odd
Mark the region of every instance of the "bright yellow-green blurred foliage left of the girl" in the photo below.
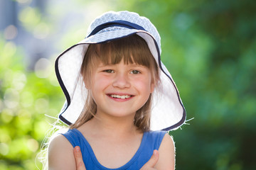
{"type": "Polygon", "coordinates": [[[26,71],[14,42],[1,39],[0,48],[0,169],[36,169],[36,154],[53,123],[45,114],[58,114],[62,92],[50,78],[26,71]]]}

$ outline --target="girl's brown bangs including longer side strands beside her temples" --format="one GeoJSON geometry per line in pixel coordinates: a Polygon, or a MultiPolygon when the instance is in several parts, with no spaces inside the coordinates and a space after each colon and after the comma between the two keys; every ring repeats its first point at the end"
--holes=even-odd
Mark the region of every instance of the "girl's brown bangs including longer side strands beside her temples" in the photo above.
{"type": "Polygon", "coordinates": [[[97,67],[99,62],[105,65],[119,64],[120,62],[142,65],[150,69],[154,84],[159,83],[159,67],[146,41],[137,34],[108,42],[90,44],[80,70],[85,82],[91,79],[92,70],[97,67]],[[85,77],[88,79],[86,80],[85,77]]]}

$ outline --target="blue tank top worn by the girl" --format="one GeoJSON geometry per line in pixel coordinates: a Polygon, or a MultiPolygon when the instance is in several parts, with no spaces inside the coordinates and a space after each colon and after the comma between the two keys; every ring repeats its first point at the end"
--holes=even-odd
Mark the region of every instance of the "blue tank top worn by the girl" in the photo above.
{"type": "Polygon", "coordinates": [[[124,164],[117,169],[108,169],[97,161],[97,158],[92,151],[92,147],[79,130],[68,130],[68,132],[65,132],[63,135],[68,139],[73,147],[80,147],[82,152],[82,159],[85,163],[86,169],[88,170],[134,170],[141,169],[142,166],[149,161],[154,149],[159,149],[165,134],[166,132],[164,131],[144,132],[141,145],[139,146],[139,149],[134,154],[132,159],[130,159],[127,164],[124,164]]]}

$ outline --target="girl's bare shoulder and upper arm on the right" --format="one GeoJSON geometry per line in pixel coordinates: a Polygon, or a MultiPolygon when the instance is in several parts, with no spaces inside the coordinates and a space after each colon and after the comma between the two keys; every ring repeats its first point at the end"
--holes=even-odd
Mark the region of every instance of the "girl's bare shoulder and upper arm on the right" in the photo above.
{"type": "Polygon", "coordinates": [[[156,169],[175,169],[175,147],[173,138],[166,133],[159,147],[156,169]]]}

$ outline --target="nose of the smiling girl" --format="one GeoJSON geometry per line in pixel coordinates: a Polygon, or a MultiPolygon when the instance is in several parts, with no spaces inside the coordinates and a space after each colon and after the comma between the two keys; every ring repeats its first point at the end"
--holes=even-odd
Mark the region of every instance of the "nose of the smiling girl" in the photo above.
{"type": "Polygon", "coordinates": [[[114,81],[112,85],[119,89],[129,88],[131,86],[129,82],[129,77],[125,73],[117,73],[116,76],[114,77],[114,81]]]}

